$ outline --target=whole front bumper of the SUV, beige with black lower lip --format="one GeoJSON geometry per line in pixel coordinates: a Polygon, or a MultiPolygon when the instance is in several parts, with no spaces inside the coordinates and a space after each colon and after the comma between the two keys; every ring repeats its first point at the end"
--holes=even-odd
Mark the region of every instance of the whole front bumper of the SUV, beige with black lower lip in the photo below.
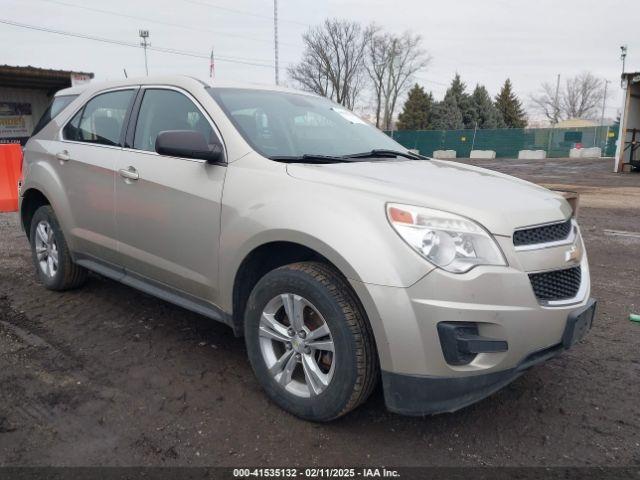
{"type": "Polygon", "coordinates": [[[462,275],[435,269],[407,288],[352,282],[374,331],[390,410],[462,408],[565,348],[567,319],[591,304],[586,254],[579,262],[578,295],[549,305],[536,298],[527,272],[562,265],[567,246],[523,254],[502,247],[507,267],[477,267],[462,275]],[[452,362],[441,343],[443,323],[472,325],[474,341],[492,348],[466,363],[452,362]]]}

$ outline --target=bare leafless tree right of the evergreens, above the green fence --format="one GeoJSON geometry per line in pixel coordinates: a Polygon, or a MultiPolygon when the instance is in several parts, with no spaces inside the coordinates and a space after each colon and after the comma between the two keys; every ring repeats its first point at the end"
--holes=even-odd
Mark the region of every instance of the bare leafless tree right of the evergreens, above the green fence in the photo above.
{"type": "Polygon", "coordinates": [[[557,95],[555,87],[543,83],[541,93],[531,96],[531,103],[556,124],[568,118],[596,118],[604,94],[604,80],[585,72],[567,79],[557,95]]]}

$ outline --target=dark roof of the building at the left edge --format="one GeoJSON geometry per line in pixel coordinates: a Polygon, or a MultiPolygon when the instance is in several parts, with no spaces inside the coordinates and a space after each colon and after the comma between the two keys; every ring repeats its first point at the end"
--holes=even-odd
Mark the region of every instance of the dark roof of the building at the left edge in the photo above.
{"type": "Polygon", "coordinates": [[[0,65],[0,86],[16,88],[38,88],[59,90],[71,86],[71,76],[82,75],[93,78],[93,73],[72,70],[50,70],[32,66],[15,67],[0,65]]]}

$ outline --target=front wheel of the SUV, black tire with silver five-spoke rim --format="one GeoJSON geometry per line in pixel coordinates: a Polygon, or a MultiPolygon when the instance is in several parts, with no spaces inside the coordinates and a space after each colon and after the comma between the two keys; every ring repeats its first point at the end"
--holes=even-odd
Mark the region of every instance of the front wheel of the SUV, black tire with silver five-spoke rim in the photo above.
{"type": "Polygon", "coordinates": [[[305,420],[345,415],[369,397],[378,380],[366,316],[346,280],[324,264],[295,263],[260,279],[247,303],[244,332],[260,385],[281,408],[305,420]],[[288,312],[296,311],[303,312],[304,336],[295,329],[292,336],[288,312]],[[329,333],[323,336],[325,327],[329,333]],[[326,350],[331,346],[333,352],[326,350]]]}

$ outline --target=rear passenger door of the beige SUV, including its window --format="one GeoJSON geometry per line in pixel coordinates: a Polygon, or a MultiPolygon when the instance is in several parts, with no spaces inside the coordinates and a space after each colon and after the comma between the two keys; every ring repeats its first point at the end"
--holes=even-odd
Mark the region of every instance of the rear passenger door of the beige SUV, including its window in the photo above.
{"type": "Polygon", "coordinates": [[[117,263],[114,210],[116,162],[136,88],[99,93],[69,120],[54,148],[69,202],[70,242],[78,258],[117,263]]]}

